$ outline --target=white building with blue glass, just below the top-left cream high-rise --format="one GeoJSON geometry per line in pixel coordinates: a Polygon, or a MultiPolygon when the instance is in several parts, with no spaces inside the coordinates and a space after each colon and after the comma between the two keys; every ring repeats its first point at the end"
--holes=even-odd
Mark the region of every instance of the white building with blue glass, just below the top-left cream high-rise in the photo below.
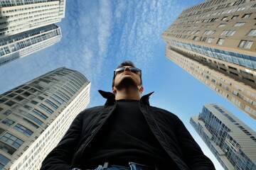
{"type": "Polygon", "coordinates": [[[0,38],[0,66],[60,41],[60,28],[51,24],[0,38]]]}

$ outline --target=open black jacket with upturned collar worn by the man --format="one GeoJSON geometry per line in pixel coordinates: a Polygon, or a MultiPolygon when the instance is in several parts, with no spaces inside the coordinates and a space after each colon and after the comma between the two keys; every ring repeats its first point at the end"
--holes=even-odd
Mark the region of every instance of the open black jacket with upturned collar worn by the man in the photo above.
{"type": "MultiPolygon", "coordinates": [[[[84,163],[82,154],[95,134],[110,117],[116,106],[114,94],[99,91],[107,98],[105,106],[87,108],[73,120],[70,128],[55,149],[44,159],[41,169],[73,169],[84,163]]],[[[152,93],[151,93],[152,94],[152,93]]],[[[139,101],[146,122],[154,136],[166,150],[178,167],[185,169],[215,169],[213,163],[203,154],[181,120],[161,108],[149,106],[149,96],[142,96],[139,101]]],[[[85,163],[86,164],[86,163],[85,163]]]]}

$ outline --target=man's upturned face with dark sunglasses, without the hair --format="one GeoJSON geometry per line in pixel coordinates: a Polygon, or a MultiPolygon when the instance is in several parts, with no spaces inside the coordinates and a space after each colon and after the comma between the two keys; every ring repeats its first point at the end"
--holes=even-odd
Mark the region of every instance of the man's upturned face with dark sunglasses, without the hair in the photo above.
{"type": "Polygon", "coordinates": [[[139,88],[142,86],[141,71],[131,66],[124,66],[116,69],[114,88],[117,90],[125,88],[139,88]],[[121,69],[121,70],[120,70],[121,69]]]}

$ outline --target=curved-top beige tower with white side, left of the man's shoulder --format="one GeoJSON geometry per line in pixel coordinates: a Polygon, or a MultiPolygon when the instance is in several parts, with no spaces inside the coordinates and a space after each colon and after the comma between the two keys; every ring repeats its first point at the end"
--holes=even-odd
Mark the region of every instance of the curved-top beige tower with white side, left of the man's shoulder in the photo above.
{"type": "Polygon", "coordinates": [[[0,96],[0,169],[39,169],[90,101],[90,81],[61,67],[0,96]]]}

